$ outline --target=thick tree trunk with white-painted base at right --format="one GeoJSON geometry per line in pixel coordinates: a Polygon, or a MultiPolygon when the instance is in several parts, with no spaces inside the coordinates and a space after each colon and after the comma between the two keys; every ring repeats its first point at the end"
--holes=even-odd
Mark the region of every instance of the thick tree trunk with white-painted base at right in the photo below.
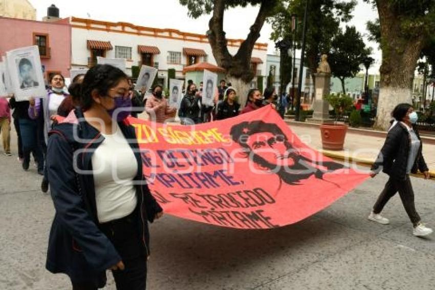
{"type": "Polygon", "coordinates": [[[409,37],[401,33],[401,23],[390,1],[378,0],[381,28],[382,65],[375,128],[387,130],[391,112],[401,102],[411,103],[412,82],[424,35],[409,37]]]}

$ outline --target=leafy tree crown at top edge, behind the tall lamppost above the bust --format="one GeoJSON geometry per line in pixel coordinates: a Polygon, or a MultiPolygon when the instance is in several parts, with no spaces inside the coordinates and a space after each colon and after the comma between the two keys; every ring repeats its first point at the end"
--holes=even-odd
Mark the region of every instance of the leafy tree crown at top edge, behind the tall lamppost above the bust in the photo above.
{"type": "MultiPolygon", "coordinates": [[[[306,0],[283,0],[277,5],[273,17],[268,18],[272,25],[271,39],[292,37],[291,18],[297,15],[299,23],[303,20],[306,0]]],[[[317,68],[318,55],[328,53],[331,50],[332,39],[338,33],[341,22],[349,22],[356,1],[338,0],[310,0],[308,7],[307,35],[306,35],[306,59],[308,67],[312,70],[317,68]]],[[[297,26],[295,33],[296,42],[300,46],[302,39],[302,25],[297,26]]]]}

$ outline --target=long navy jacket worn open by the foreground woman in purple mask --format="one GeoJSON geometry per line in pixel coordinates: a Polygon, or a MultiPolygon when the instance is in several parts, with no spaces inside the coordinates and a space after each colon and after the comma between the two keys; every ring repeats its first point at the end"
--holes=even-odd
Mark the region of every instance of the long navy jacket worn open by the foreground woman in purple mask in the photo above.
{"type": "MultiPolygon", "coordinates": [[[[136,139],[132,126],[123,122],[118,124],[126,139],[136,139]]],[[[103,140],[101,133],[84,121],[79,108],[71,112],[66,122],[50,131],[47,168],[56,213],[50,231],[46,267],[52,273],[67,274],[73,281],[101,277],[121,260],[114,245],[99,229],[94,178],[92,173],[86,174],[92,172],[93,152],[103,140]],[[68,119],[75,120],[68,122],[68,119]]],[[[141,217],[138,233],[145,258],[149,255],[147,220],[153,222],[156,213],[162,209],[145,183],[138,143],[129,144],[138,162],[135,180],[142,181],[135,186],[137,210],[141,217]]]]}

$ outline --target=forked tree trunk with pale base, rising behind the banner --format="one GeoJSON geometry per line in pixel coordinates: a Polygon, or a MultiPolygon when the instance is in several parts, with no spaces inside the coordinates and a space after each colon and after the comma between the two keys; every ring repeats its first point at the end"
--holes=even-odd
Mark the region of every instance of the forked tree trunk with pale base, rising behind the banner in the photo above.
{"type": "Polygon", "coordinates": [[[260,36],[260,30],[266,20],[266,17],[273,6],[268,1],[263,1],[254,24],[250,27],[247,38],[242,42],[237,53],[232,56],[227,48],[227,40],[224,31],[224,11],[225,1],[214,0],[213,15],[209,21],[208,40],[214,59],[218,66],[224,68],[227,73],[228,81],[233,87],[237,84],[237,95],[241,102],[242,108],[245,106],[247,92],[250,83],[255,76],[251,69],[251,55],[255,42],[260,36]]]}

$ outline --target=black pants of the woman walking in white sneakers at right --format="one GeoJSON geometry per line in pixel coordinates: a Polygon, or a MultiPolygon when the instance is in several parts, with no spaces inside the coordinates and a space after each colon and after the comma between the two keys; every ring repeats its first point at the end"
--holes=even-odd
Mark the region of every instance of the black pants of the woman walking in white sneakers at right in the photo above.
{"type": "Polygon", "coordinates": [[[385,184],[384,190],[379,195],[378,200],[373,206],[373,212],[379,214],[385,204],[390,198],[392,198],[397,192],[399,192],[400,199],[402,200],[403,206],[406,213],[409,216],[412,224],[416,226],[420,222],[420,216],[416,211],[416,204],[414,202],[414,190],[412,190],[411,180],[409,175],[406,175],[404,180],[398,180],[394,178],[389,178],[385,184]]]}

